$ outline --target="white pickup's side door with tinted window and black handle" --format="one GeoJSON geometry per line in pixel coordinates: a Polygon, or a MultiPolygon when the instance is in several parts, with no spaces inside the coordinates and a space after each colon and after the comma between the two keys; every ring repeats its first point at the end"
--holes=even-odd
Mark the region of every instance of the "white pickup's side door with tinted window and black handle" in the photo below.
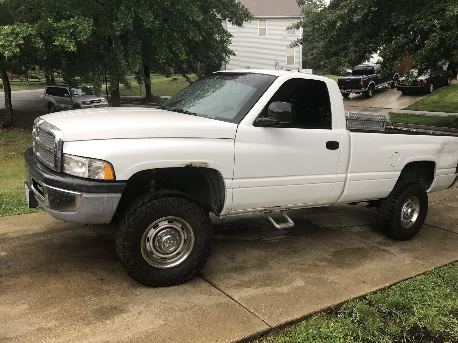
{"type": "Polygon", "coordinates": [[[323,203],[333,191],[342,135],[332,129],[326,83],[286,80],[260,115],[276,101],[293,104],[292,123],[256,127],[245,118],[237,129],[232,212],[323,203]]]}

